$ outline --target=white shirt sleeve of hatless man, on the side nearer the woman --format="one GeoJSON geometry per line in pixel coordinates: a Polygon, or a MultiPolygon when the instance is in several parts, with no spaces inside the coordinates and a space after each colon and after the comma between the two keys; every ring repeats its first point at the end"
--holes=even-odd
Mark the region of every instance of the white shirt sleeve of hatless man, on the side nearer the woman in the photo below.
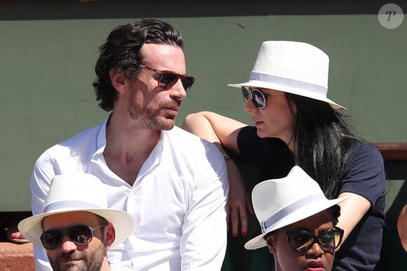
{"type": "Polygon", "coordinates": [[[227,167],[218,148],[207,145],[182,225],[181,270],[220,270],[227,244],[227,167]]]}

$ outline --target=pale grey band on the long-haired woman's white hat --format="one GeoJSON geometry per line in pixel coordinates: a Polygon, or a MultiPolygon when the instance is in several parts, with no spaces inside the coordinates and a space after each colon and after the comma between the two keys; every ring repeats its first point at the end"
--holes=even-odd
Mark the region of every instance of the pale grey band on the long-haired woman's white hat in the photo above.
{"type": "Polygon", "coordinates": [[[303,81],[298,81],[290,78],[284,78],[280,76],[273,76],[271,74],[261,74],[255,71],[251,72],[250,81],[262,81],[266,83],[274,83],[278,85],[283,85],[288,88],[298,88],[301,90],[306,90],[309,92],[316,92],[319,95],[326,97],[328,88],[323,87],[322,85],[315,85],[312,83],[307,83],[303,81]]]}

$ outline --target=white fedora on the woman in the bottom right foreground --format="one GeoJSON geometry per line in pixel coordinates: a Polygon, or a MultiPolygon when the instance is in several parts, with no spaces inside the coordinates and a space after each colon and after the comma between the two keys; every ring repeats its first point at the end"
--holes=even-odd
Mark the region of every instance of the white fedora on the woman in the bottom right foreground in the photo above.
{"type": "Polygon", "coordinates": [[[313,216],[345,199],[347,197],[328,200],[319,184],[298,166],[293,167],[284,178],[262,181],[252,192],[253,208],[262,234],[248,241],[244,247],[259,249],[267,246],[263,237],[268,232],[313,216]]]}

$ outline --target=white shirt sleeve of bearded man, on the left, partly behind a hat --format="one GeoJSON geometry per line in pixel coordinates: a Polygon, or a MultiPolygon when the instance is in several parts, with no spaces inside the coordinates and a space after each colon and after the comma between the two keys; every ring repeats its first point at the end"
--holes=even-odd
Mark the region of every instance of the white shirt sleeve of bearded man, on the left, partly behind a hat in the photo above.
{"type": "MultiPolygon", "coordinates": [[[[41,214],[44,207],[44,200],[48,193],[51,179],[55,176],[51,158],[48,153],[43,153],[34,165],[30,186],[32,191],[31,209],[32,214],[41,214]]],[[[34,259],[36,271],[51,271],[51,265],[46,255],[46,249],[34,244],[34,259]]]]}

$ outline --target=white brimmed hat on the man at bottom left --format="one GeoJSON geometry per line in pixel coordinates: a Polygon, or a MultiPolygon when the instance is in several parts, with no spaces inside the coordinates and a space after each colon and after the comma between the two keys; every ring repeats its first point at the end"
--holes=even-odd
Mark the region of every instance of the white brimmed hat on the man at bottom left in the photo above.
{"type": "Polygon", "coordinates": [[[104,217],[114,225],[116,238],[112,246],[116,246],[131,235],[134,221],[126,211],[107,207],[105,189],[100,179],[92,174],[57,175],[51,181],[42,214],[20,221],[18,230],[29,241],[44,247],[39,239],[44,232],[42,227],[44,217],[69,211],[89,211],[104,217]]]}

